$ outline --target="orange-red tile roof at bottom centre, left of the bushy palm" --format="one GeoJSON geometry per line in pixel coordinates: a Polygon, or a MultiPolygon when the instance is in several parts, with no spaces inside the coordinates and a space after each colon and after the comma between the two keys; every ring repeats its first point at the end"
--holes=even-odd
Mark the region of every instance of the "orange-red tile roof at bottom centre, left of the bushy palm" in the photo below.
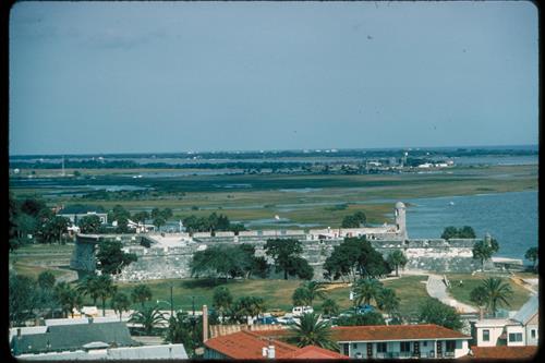
{"type": "MultiPolygon", "coordinates": [[[[346,355],[319,347],[298,348],[275,339],[270,340],[270,342],[275,346],[275,358],[277,359],[348,359],[346,355]]],[[[247,330],[216,337],[205,342],[207,348],[238,360],[265,359],[263,348],[268,347],[268,338],[247,330]]]]}

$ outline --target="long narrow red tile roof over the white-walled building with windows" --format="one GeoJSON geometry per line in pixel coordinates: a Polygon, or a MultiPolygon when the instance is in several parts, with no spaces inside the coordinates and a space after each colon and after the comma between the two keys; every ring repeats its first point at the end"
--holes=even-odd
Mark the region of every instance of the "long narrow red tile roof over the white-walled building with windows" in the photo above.
{"type": "Polygon", "coordinates": [[[332,327],[335,341],[391,341],[414,339],[471,339],[459,331],[435,324],[370,325],[332,327]]]}

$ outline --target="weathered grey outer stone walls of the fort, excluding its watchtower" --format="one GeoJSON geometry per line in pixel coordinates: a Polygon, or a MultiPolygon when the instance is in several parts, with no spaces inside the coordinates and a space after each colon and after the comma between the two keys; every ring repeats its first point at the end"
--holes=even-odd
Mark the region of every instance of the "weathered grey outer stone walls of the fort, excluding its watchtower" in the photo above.
{"type": "MultiPolygon", "coordinates": [[[[80,238],[71,261],[71,267],[81,271],[93,271],[95,263],[95,244],[101,239],[111,239],[112,237],[100,238],[80,238]]],[[[118,239],[119,237],[113,237],[118,239]]],[[[264,246],[267,237],[199,237],[194,238],[193,242],[183,242],[180,246],[160,246],[154,242],[153,237],[149,249],[138,245],[138,239],[134,235],[122,239],[125,243],[124,250],[138,256],[138,261],[132,263],[123,269],[117,277],[119,280],[140,281],[147,279],[166,278],[189,278],[191,277],[190,264],[193,254],[202,251],[209,245],[219,243],[240,244],[250,243],[255,246],[256,256],[266,256],[264,246]],[[241,239],[243,241],[241,241],[241,239]]],[[[292,238],[292,237],[284,237],[292,238]]],[[[323,265],[326,258],[331,254],[334,247],[339,245],[343,239],[328,240],[308,240],[307,235],[300,239],[303,246],[302,256],[314,268],[314,279],[323,280],[323,265]]],[[[373,240],[372,245],[386,258],[395,250],[402,250],[409,259],[405,268],[432,270],[437,273],[470,273],[481,268],[480,262],[473,259],[472,247],[479,240],[443,240],[443,239],[411,239],[400,240],[373,240]]],[[[271,264],[272,259],[267,257],[271,264]]]]}

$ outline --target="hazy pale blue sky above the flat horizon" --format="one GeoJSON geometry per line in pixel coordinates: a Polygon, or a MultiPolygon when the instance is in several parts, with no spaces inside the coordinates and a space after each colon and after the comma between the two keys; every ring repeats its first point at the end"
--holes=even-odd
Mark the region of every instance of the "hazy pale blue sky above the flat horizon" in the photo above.
{"type": "Polygon", "coordinates": [[[21,2],[10,154],[537,144],[531,2],[21,2]]]}

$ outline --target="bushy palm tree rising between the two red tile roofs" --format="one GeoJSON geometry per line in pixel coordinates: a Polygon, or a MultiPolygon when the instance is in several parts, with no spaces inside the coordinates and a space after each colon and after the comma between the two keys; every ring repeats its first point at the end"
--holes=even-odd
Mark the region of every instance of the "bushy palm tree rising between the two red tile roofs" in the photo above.
{"type": "Polygon", "coordinates": [[[328,322],[319,322],[319,315],[306,313],[299,323],[290,328],[298,347],[317,346],[338,351],[339,347],[331,339],[331,326],[328,322]]]}

